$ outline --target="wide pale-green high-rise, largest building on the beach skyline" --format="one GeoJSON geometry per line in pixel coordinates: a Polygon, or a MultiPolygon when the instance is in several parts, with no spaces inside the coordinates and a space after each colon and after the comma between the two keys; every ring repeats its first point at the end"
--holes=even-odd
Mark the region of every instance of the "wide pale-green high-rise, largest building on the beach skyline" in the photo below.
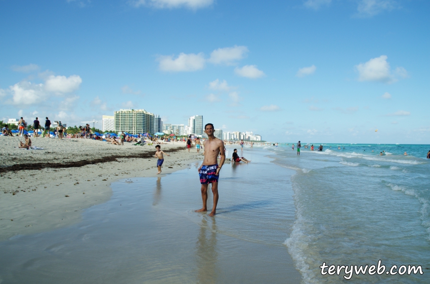
{"type": "Polygon", "coordinates": [[[127,133],[154,133],[155,115],[146,110],[119,110],[114,112],[115,131],[127,133]]]}

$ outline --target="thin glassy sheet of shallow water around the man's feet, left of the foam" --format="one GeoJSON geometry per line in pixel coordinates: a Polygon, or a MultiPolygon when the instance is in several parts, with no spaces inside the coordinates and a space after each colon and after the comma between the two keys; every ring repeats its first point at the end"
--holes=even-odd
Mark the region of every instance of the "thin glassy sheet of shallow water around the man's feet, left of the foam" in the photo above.
{"type": "Polygon", "coordinates": [[[216,217],[194,212],[197,165],[121,180],[81,223],[1,242],[0,282],[298,283],[283,245],[295,218],[294,171],[270,163],[265,150],[244,152],[250,164],[222,169],[216,217]]]}

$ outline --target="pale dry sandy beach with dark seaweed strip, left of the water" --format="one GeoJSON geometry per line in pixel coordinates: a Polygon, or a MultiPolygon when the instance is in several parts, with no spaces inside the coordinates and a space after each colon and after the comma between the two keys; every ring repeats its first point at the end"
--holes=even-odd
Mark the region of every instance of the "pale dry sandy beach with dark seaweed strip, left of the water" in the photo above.
{"type": "Polygon", "coordinates": [[[44,150],[24,150],[18,139],[0,136],[0,241],[79,222],[81,210],[110,199],[115,180],[163,176],[203,158],[184,143],[161,145],[171,156],[156,175],[155,144],[38,137],[32,144],[44,150]]]}

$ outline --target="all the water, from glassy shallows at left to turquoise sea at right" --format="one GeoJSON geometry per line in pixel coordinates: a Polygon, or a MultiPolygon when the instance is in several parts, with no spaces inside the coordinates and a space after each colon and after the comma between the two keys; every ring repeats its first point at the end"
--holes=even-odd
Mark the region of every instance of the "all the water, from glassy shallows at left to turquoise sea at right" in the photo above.
{"type": "Polygon", "coordinates": [[[0,283],[428,283],[429,149],[239,148],[251,162],[224,165],[213,218],[194,212],[198,163],[119,180],[80,223],[0,242],[0,283]],[[423,274],[321,274],[378,260],[423,274]]]}

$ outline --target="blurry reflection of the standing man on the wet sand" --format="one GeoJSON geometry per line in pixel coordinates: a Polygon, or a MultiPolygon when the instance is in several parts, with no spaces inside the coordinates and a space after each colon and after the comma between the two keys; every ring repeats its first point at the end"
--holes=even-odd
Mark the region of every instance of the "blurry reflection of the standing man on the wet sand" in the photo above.
{"type": "Polygon", "coordinates": [[[202,216],[196,243],[197,283],[211,284],[217,282],[220,273],[217,266],[217,224],[215,218],[210,218],[209,222],[206,218],[202,216]]]}

